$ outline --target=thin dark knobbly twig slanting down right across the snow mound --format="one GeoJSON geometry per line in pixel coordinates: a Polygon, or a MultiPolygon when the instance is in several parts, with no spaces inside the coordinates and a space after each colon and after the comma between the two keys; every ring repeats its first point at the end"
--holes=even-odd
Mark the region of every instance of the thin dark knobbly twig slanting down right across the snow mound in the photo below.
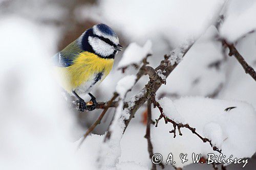
{"type": "Polygon", "coordinates": [[[181,130],[180,130],[180,129],[181,129],[181,128],[187,128],[187,129],[189,129],[192,133],[194,133],[195,135],[197,135],[203,142],[209,142],[211,148],[212,148],[214,151],[217,151],[217,152],[221,153],[221,150],[218,149],[217,147],[215,147],[215,146],[211,143],[211,140],[209,140],[208,138],[204,138],[204,137],[202,137],[200,134],[198,134],[198,133],[196,132],[196,128],[192,128],[192,127],[190,127],[188,124],[185,124],[185,125],[184,125],[184,124],[181,124],[181,123],[176,123],[174,120],[169,119],[168,117],[166,117],[166,115],[163,113],[163,108],[160,106],[160,104],[159,104],[158,102],[154,101],[154,105],[159,109],[159,111],[160,111],[160,113],[161,113],[160,116],[159,116],[159,118],[156,119],[156,127],[157,127],[157,125],[158,125],[159,120],[160,120],[161,118],[164,118],[165,124],[167,124],[168,122],[173,124],[174,129],[173,129],[172,131],[169,131],[169,133],[173,133],[173,134],[174,134],[174,138],[176,137],[176,127],[177,127],[177,129],[178,129],[178,131],[179,131],[179,135],[180,135],[180,136],[182,136],[182,133],[181,133],[181,130]]]}

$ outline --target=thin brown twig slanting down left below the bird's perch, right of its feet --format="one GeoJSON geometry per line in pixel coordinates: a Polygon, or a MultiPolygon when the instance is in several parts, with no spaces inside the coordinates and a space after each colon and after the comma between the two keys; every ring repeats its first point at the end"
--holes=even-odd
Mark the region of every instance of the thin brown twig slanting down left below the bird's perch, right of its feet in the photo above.
{"type": "Polygon", "coordinates": [[[83,139],[81,140],[81,142],[79,143],[79,148],[82,144],[82,142],[84,141],[84,139],[86,139],[86,137],[94,130],[94,128],[100,124],[101,119],[103,118],[103,116],[105,115],[106,111],[108,111],[108,109],[110,108],[112,102],[117,98],[118,93],[114,93],[111,100],[108,102],[108,104],[106,105],[106,107],[104,108],[104,110],[102,111],[102,113],[99,115],[99,117],[97,118],[97,120],[95,121],[95,123],[87,130],[87,132],[83,135],[83,139]]]}

